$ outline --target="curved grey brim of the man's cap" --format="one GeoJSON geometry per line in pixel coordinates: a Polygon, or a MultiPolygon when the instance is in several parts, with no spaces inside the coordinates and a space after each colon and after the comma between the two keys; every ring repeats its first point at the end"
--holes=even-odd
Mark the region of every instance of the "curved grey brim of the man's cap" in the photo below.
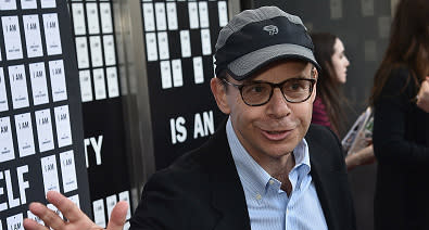
{"type": "Polygon", "coordinates": [[[291,43],[282,43],[266,47],[242,55],[228,64],[228,71],[234,79],[243,80],[267,64],[282,59],[308,61],[313,63],[316,68],[320,69],[311,49],[291,43]]]}

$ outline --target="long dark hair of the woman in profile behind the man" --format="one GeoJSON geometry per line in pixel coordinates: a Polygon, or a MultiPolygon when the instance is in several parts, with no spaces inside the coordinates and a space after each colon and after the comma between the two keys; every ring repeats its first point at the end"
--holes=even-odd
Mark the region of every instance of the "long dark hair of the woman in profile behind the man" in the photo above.
{"type": "Polygon", "coordinates": [[[340,133],[345,124],[345,113],[342,108],[348,102],[332,64],[333,46],[338,37],[329,33],[313,33],[311,37],[314,43],[314,55],[321,67],[317,79],[317,97],[326,106],[332,129],[340,133]]]}

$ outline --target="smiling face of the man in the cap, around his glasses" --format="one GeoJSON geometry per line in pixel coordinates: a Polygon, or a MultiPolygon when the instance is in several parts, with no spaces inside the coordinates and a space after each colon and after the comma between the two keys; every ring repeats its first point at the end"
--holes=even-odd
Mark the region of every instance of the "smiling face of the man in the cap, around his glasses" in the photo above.
{"type": "MultiPolygon", "coordinates": [[[[270,64],[249,80],[278,84],[289,78],[316,78],[313,65],[299,61],[282,61],[270,64]]],[[[313,112],[315,87],[311,98],[301,103],[289,103],[279,88],[275,88],[270,100],[261,106],[249,106],[241,99],[240,91],[231,86],[223,90],[220,80],[214,78],[212,90],[219,108],[230,115],[238,139],[252,157],[261,165],[281,161],[289,155],[305,136],[313,112]],[[220,87],[218,87],[220,86],[220,87]]],[[[241,85],[228,77],[230,82],[241,85]]]]}

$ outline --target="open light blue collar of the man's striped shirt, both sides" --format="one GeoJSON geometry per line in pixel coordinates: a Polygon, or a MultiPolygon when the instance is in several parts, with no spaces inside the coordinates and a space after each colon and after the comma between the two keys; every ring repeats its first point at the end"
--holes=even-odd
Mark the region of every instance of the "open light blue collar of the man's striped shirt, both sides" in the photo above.
{"type": "MultiPolygon", "coordinates": [[[[255,194],[264,194],[266,188],[269,186],[269,180],[276,179],[272,178],[272,176],[253,159],[248,151],[245,151],[232,128],[230,117],[226,125],[226,135],[242,186],[249,188],[255,194]]],[[[298,170],[296,173],[299,176],[296,181],[291,182],[299,187],[302,178],[311,170],[308,145],[305,139],[300,141],[293,150],[293,155],[295,157],[295,166],[292,170],[298,170]]]]}

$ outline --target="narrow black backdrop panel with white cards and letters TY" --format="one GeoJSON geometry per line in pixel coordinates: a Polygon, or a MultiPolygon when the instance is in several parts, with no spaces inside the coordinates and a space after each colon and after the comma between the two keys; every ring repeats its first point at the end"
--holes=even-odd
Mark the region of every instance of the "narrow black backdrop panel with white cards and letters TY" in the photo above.
{"type": "Polygon", "coordinates": [[[68,5],[77,48],[92,214],[96,223],[105,227],[116,202],[130,204],[113,3],[73,0],[68,5]]]}

